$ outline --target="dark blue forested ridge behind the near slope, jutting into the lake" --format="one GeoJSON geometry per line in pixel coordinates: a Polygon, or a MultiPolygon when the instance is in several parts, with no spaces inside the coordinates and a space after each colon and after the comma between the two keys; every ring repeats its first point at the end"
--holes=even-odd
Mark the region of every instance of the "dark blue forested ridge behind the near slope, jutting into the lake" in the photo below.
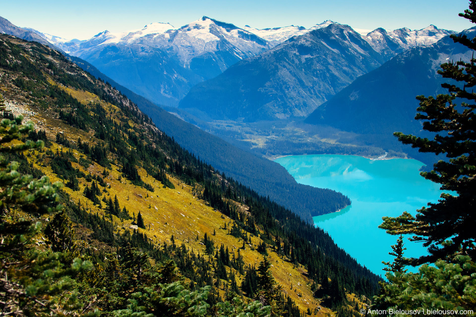
{"type": "Polygon", "coordinates": [[[260,195],[269,196],[273,201],[296,212],[303,219],[312,221],[313,215],[334,212],[350,204],[350,200],[341,193],[298,184],[283,166],[261,158],[261,155],[244,151],[177,118],[115,83],[88,62],[74,56],[66,58],[91,72],[96,78],[109,82],[147,114],[161,131],[172,136],[181,147],[197,158],[243,185],[253,188],[260,195]]]}

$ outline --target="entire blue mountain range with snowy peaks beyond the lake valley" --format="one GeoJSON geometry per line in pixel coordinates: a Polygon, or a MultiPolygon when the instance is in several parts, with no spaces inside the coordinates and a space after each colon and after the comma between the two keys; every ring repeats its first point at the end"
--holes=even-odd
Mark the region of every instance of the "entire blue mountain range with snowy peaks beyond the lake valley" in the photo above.
{"type": "Polygon", "coordinates": [[[203,17],[180,28],[152,23],[69,41],[0,19],[0,31],[80,56],[155,104],[181,100],[182,113],[204,121],[309,116],[305,123],[357,133],[365,144],[389,149],[392,132],[420,129],[415,96],[439,92],[439,64],[467,57],[444,38],[454,31],[433,25],[358,33],[325,21],[307,30],[258,30],[203,17]]]}

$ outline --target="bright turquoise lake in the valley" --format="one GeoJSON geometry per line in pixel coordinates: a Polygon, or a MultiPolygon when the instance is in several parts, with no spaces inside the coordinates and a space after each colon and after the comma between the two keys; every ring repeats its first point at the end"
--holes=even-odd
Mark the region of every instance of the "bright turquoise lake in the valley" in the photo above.
{"type": "MultiPolygon", "coordinates": [[[[388,253],[397,236],[379,229],[383,216],[398,216],[428,202],[437,202],[439,185],[420,176],[423,165],[415,159],[371,160],[350,155],[302,155],[275,160],[298,183],[330,188],[343,193],[352,205],[342,211],[314,217],[314,223],[327,231],[337,245],[358,263],[384,275],[382,261],[393,261],[388,253]]],[[[405,239],[407,257],[426,254],[421,243],[405,239]]],[[[416,271],[411,268],[411,271],[416,271]]]]}

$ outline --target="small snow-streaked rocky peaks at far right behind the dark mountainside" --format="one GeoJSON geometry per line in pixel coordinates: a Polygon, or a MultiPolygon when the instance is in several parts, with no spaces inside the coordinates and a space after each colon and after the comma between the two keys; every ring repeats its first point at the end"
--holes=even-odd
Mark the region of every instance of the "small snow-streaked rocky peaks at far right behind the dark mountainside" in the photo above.
{"type": "Polygon", "coordinates": [[[454,33],[456,32],[438,29],[436,26],[430,25],[424,29],[413,31],[409,28],[401,28],[393,31],[378,28],[362,38],[367,41],[376,52],[390,59],[396,54],[411,48],[434,44],[443,37],[454,33]]]}

